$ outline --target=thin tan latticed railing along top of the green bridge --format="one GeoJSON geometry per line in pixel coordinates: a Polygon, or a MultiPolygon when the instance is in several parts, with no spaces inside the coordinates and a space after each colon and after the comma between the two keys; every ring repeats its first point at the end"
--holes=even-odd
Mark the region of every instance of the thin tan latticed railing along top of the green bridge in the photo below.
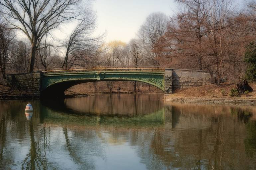
{"type": "Polygon", "coordinates": [[[149,71],[149,72],[163,72],[165,67],[71,67],[71,68],[51,68],[41,69],[44,73],[58,73],[58,72],[93,72],[93,71],[149,71]]]}

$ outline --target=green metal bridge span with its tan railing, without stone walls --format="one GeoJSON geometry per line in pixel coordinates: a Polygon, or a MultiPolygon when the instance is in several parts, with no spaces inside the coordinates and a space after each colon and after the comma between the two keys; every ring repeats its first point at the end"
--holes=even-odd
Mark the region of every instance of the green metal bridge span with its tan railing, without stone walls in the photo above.
{"type": "Polygon", "coordinates": [[[165,69],[161,68],[72,68],[43,70],[42,93],[64,93],[69,87],[95,81],[140,81],[151,84],[162,91],[165,69]]]}

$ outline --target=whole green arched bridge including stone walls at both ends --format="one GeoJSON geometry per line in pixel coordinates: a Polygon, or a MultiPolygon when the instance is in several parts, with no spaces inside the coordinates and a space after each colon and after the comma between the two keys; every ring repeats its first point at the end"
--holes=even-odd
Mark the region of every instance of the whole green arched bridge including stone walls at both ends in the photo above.
{"type": "Polygon", "coordinates": [[[24,94],[35,97],[61,97],[64,96],[64,91],[71,86],[95,81],[139,81],[151,84],[168,94],[172,93],[173,89],[185,88],[183,86],[185,78],[187,78],[187,83],[185,83],[187,86],[209,82],[208,73],[201,71],[196,73],[187,70],[186,73],[186,70],[153,67],[47,69],[32,73],[9,74],[6,82],[13,88],[20,90],[21,93],[24,92],[24,94]],[[195,76],[199,78],[194,79],[195,76]]]}

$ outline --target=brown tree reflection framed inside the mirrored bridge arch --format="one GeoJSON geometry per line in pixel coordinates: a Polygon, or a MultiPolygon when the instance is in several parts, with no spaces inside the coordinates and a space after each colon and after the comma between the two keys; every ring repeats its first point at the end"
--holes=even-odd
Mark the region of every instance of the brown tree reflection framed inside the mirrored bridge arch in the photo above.
{"type": "Polygon", "coordinates": [[[65,99],[67,108],[96,114],[138,115],[153,113],[163,108],[159,94],[102,94],[65,99]]]}

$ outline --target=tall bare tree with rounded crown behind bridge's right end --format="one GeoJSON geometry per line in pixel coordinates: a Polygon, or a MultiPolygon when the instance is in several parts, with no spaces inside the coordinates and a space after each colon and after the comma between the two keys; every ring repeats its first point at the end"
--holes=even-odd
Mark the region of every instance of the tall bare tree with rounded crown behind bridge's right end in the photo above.
{"type": "Polygon", "coordinates": [[[154,66],[159,66],[159,58],[161,51],[160,38],[164,36],[167,29],[168,18],[163,13],[150,14],[146,22],[141,26],[139,30],[139,38],[143,42],[143,47],[148,53],[149,59],[154,66]]]}

